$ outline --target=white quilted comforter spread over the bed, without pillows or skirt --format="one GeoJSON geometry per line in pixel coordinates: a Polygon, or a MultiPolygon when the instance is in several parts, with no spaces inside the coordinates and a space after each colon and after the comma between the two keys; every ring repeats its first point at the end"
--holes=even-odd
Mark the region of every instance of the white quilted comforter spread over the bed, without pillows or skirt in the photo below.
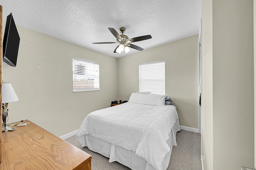
{"type": "MultiPolygon", "coordinates": [[[[78,131],[77,139],[82,144],[82,137],[90,134],[133,150],[154,168],[162,170],[162,160],[170,151],[166,140],[177,118],[178,113],[173,105],[153,106],[127,102],[88,114],[78,131]]],[[[82,147],[85,146],[82,144],[82,147]]]]}

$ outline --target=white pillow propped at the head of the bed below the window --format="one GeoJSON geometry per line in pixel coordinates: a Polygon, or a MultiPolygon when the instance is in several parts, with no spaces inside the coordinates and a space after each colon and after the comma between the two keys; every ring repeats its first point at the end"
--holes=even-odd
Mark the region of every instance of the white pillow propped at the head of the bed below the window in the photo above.
{"type": "Polygon", "coordinates": [[[138,104],[149,104],[155,106],[164,106],[165,105],[166,95],[159,94],[138,94],[132,93],[128,102],[138,103],[138,104]]]}

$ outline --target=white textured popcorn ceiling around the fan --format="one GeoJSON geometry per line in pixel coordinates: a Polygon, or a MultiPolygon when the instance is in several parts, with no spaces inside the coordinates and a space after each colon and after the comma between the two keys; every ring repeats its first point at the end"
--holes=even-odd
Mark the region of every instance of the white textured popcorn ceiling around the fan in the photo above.
{"type": "MultiPolygon", "coordinates": [[[[108,27],[125,27],[129,38],[151,35],[132,44],[146,49],[199,33],[202,0],[0,0],[3,20],[12,12],[16,25],[116,58],[118,44],[108,27]]],[[[120,33],[121,34],[121,33],[120,33]]],[[[22,37],[21,37],[22,38],[22,37]]]]}

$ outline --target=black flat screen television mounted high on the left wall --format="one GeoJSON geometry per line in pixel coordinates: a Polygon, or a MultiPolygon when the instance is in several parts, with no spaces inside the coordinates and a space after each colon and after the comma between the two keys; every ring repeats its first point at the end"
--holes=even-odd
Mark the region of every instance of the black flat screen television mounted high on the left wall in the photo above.
{"type": "Polygon", "coordinates": [[[3,39],[3,61],[10,66],[16,67],[19,45],[20,36],[11,13],[6,19],[3,39]]]}

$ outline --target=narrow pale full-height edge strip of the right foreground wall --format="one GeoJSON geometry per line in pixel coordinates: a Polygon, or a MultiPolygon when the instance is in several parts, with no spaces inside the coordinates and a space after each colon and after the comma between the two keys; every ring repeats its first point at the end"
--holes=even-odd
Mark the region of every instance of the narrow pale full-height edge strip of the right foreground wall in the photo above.
{"type": "Polygon", "coordinates": [[[202,155],[213,170],[212,0],[202,1],[202,155]]]}

